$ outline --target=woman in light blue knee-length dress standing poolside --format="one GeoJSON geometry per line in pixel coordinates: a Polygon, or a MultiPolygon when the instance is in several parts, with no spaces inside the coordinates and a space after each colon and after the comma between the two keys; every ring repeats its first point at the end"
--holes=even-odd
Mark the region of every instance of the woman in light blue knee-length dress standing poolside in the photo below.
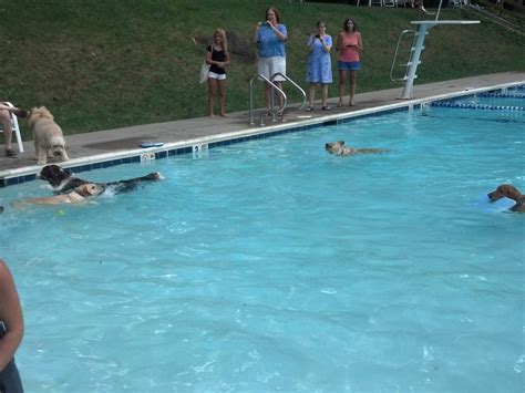
{"type": "Polygon", "coordinates": [[[328,83],[332,83],[332,62],[330,50],[332,49],[332,38],[326,34],[327,24],[323,21],[317,22],[317,34],[311,34],[308,39],[310,56],[308,59],[307,82],[310,83],[310,106],[307,111],[313,111],[316,99],[316,85],[321,85],[321,107],[330,111],[327,105],[328,83]]]}

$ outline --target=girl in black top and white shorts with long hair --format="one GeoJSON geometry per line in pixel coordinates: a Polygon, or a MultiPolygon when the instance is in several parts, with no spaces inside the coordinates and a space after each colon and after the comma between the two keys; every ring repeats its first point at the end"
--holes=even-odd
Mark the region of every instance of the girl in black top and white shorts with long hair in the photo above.
{"type": "Polygon", "coordinates": [[[206,48],[206,63],[209,64],[208,72],[208,116],[214,117],[214,100],[218,99],[219,114],[226,117],[226,65],[229,64],[228,41],[226,32],[217,29],[214,40],[206,48]]]}

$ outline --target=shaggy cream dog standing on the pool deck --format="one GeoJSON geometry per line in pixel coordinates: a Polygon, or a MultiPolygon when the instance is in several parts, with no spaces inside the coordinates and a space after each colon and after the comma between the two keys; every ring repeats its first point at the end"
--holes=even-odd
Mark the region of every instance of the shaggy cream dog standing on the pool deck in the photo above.
{"type": "Polygon", "coordinates": [[[33,107],[28,118],[33,131],[34,151],[39,165],[45,165],[49,157],[68,161],[65,139],[62,128],[54,122],[53,115],[45,106],[33,107]]]}

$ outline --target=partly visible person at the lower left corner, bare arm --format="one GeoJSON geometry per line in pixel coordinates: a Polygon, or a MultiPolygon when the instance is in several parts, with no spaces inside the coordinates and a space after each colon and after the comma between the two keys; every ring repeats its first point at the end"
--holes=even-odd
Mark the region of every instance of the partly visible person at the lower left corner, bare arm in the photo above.
{"type": "Polygon", "coordinates": [[[23,314],[11,271],[0,259],[0,392],[22,393],[14,353],[23,338],[23,314]]]}

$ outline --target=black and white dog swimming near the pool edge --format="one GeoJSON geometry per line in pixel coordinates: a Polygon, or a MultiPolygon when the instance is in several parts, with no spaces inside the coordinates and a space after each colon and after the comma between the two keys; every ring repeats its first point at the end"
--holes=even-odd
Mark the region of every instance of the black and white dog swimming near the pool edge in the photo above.
{"type": "Polygon", "coordinates": [[[153,172],[146,176],[135,177],[126,180],[94,183],[75,177],[71,170],[64,169],[54,164],[44,166],[37,177],[48,182],[55,194],[68,194],[84,184],[95,184],[97,186],[104,187],[104,190],[111,190],[113,194],[120,194],[131,192],[141,185],[163,179],[161,173],[153,172]]]}

